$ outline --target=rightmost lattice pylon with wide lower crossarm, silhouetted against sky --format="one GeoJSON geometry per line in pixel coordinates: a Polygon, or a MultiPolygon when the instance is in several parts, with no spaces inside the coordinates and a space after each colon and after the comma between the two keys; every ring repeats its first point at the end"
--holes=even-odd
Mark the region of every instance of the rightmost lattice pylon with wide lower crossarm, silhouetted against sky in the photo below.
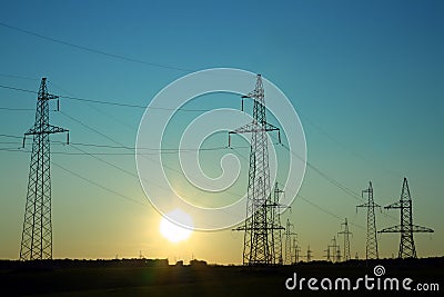
{"type": "Polygon", "coordinates": [[[412,197],[410,195],[407,179],[404,178],[401,199],[390,206],[384,207],[385,209],[401,209],[401,225],[396,225],[390,228],[382,229],[380,232],[400,232],[401,242],[398,258],[416,258],[415,242],[413,240],[413,232],[434,232],[433,229],[413,225],[412,215],[412,197]]]}

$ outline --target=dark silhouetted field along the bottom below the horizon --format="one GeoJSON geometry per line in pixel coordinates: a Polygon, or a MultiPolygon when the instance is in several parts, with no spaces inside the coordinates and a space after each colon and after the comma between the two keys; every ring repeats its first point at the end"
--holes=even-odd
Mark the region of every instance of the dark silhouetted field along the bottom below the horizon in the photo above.
{"type": "MultiPolygon", "coordinates": [[[[352,287],[360,277],[375,277],[373,268],[382,265],[384,278],[401,281],[413,279],[417,284],[437,284],[443,290],[443,258],[418,260],[377,260],[330,264],[314,261],[295,266],[168,266],[147,260],[52,260],[40,263],[0,261],[0,296],[356,296],[355,290],[324,290],[320,281],[329,277],[350,278],[352,287]],[[315,277],[320,289],[312,291],[303,284],[302,291],[287,290],[285,280],[297,273],[297,279],[315,277]]],[[[376,281],[376,280],[375,280],[376,281]]],[[[374,281],[374,283],[375,283],[374,281]]],[[[376,283],[375,283],[376,284],[376,283]]],[[[334,285],[333,285],[334,286],[334,285]]],[[[376,286],[376,285],[375,285],[376,286]]],[[[366,290],[365,296],[437,296],[438,291],[366,290]],[[397,294],[396,294],[397,293],[397,294]]]]}

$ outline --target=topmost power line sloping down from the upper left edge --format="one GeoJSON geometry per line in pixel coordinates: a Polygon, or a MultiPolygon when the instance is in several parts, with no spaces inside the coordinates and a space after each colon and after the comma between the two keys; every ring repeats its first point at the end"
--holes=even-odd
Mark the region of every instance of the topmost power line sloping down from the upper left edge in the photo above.
{"type": "Polygon", "coordinates": [[[151,66],[151,67],[170,69],[170,70],[176,70],[176,71],[181,71],[181,72],[193,72],[194,71],[194,70],[186,69],[186,68],[174,67],[174,66],[169,66],[169,65],[163,65],[163,63],[148,62],[148,61],[133,59],[133,58],[124,57],[124,56],[117,55],[117,53],[111,53],[111,52],[108,52],[108,51],[102,51],[102,50],[98,50],[98,49],[93,49],[93,48],[89,48],[89,47],[79,46],[79,44],[75,44],[75,43],[72,43],[72,42],[68,42],[68,41],[64,41],[64,40],[60,40],[60,39],[56,39],[56,38],[52,38],[52,37],[43,36],[43,34],[33,32],[33,31],[21,29],[21,28],[18,28],[18,27],[4,23],[4,22],[0,22],[0,26],[3,26],[6,28],[9,28],[9,29],[12,29],[12,30],[16,30],[16,31],[29,34],[29,36],[38,37],[38,38],[41,38],[41,39],[44,39],[44,40],[49,40],[49,41],[52,41],[52,42],[56,42],[56,43],[60,43],[60,44],[63,44],[63,46],[68,46],[68,47],[75,48],[75,49],[83,50],[83,51],[88,51],[88,52],[102,55],[102,56],[105,56],[105,57],[109,57],[109,58],[113,58],[113,59],[118,59],[118,60],[123,60],[123,61],[128,61],[128,62],[135,62],[135,63],[147,65],[147,66],[151,66]]]}

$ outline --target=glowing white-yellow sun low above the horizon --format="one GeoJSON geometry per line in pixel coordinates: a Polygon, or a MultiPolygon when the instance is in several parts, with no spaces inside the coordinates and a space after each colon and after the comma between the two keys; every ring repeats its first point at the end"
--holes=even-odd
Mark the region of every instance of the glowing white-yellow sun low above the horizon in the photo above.
{"type": "MultiPolygon", "coordinates": [[[[173,211],[167,214],[167,216],[172,219],[175,218],[179,221],[191,222],[190,216],[188,216],[186,214],[184,214],[181,210],[173,210],[173,211]],[[179,219],[179,217],[181,219],[179,219]]],[[[191,224],[186,224],[186,225],[191,225],[191,224]]],[[[164,238],[170,240],[171,242],[175,244],[179,241],[183,241],[183,240],[190,238],[191,232],[192,232],[191,229],[181,227],[181,226],[170,221],[167,217],[162,217],[162,220],[160,221],[160,234],[164,238]]]]}

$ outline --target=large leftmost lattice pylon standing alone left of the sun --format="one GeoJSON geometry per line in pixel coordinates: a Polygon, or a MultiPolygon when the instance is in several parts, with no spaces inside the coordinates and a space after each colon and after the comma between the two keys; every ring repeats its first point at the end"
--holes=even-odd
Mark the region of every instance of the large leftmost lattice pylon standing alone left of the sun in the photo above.
{"type": "MultiPolygon", "coordinates": [[[[68,132],[67,129],[49,123],[49,100],[58,100],[58,98],[48,93],[47,78],[42,78],[37,98],[36,122],[23,138],[23,147],[27,136],[32,135],[33,140],[20,260],[52,259],[49,135],[68,132]]],[[[67,142],[69,142],[69,135],[67,142]]]]}

